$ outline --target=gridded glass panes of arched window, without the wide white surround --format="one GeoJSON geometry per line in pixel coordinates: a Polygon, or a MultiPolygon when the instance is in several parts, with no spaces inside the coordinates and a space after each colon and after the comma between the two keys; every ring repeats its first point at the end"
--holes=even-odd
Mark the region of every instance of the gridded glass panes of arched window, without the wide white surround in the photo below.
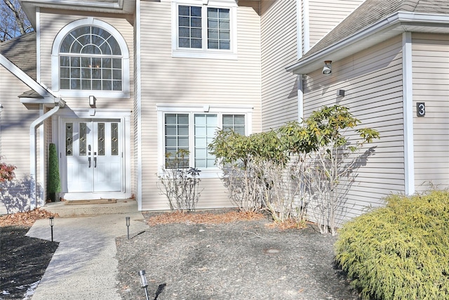
{"type": "Polygon", "coordinates": [[[95,26],[78,27],[60,46],[60,89],[122,90],[122,56],[112,34],[95,26]]]}

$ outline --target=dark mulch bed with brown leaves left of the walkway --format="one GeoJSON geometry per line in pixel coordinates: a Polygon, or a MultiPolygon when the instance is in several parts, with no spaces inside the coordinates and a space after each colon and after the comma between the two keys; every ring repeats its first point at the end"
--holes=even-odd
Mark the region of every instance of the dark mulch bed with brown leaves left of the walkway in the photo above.
{"type": "Polygon", "coordinates": [[[31,299],[58,242],[25,236],[37,219],[55,216],[36,209],[0,217],[0,299],[31,299]]]}

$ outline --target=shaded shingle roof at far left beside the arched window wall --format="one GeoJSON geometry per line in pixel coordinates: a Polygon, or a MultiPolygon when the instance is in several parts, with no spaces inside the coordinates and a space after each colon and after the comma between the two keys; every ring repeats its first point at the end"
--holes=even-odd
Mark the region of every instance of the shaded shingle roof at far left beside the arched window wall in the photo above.
{"type": "Polygon", "coordinates": [[[29,77],[36,80],[35,32],[29,32],[0,43],[0,53],[23,72],[27,73],[29,77]]]}

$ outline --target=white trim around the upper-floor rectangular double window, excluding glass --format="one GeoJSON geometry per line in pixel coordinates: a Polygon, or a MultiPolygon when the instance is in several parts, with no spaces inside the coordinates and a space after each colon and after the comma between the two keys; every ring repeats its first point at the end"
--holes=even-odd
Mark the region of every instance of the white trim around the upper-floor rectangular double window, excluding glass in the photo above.
{"type": "Polygon", "coordinates": [[[174,58],[212,58],[224,60],[237,59],[237,4],[235,0],[171,0],[171,34],[172,34],[172,56],[174,58]],[[178,39],[178,18],[177,6],[201,6],[203,21],[203,45],[207,44],[207,8],[227,8],[229,9],[229,30],[231,34],[231,47],[229,50],[208,49],[203,46],[201,49],[180,48],[177,46],[178,39]]]}

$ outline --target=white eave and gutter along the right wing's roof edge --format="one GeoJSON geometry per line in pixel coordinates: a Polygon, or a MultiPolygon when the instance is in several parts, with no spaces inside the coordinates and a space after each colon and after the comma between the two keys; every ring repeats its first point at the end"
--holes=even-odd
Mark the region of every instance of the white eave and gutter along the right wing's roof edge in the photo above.
{"type": "Polygon", "coordinates": [[[309,74],[323,67],[325,60],[341,60],[403,32],[449,33],[449,15],[394,13],[337,44],[300,59],[286,70],[293,74],[309,74]]]}

